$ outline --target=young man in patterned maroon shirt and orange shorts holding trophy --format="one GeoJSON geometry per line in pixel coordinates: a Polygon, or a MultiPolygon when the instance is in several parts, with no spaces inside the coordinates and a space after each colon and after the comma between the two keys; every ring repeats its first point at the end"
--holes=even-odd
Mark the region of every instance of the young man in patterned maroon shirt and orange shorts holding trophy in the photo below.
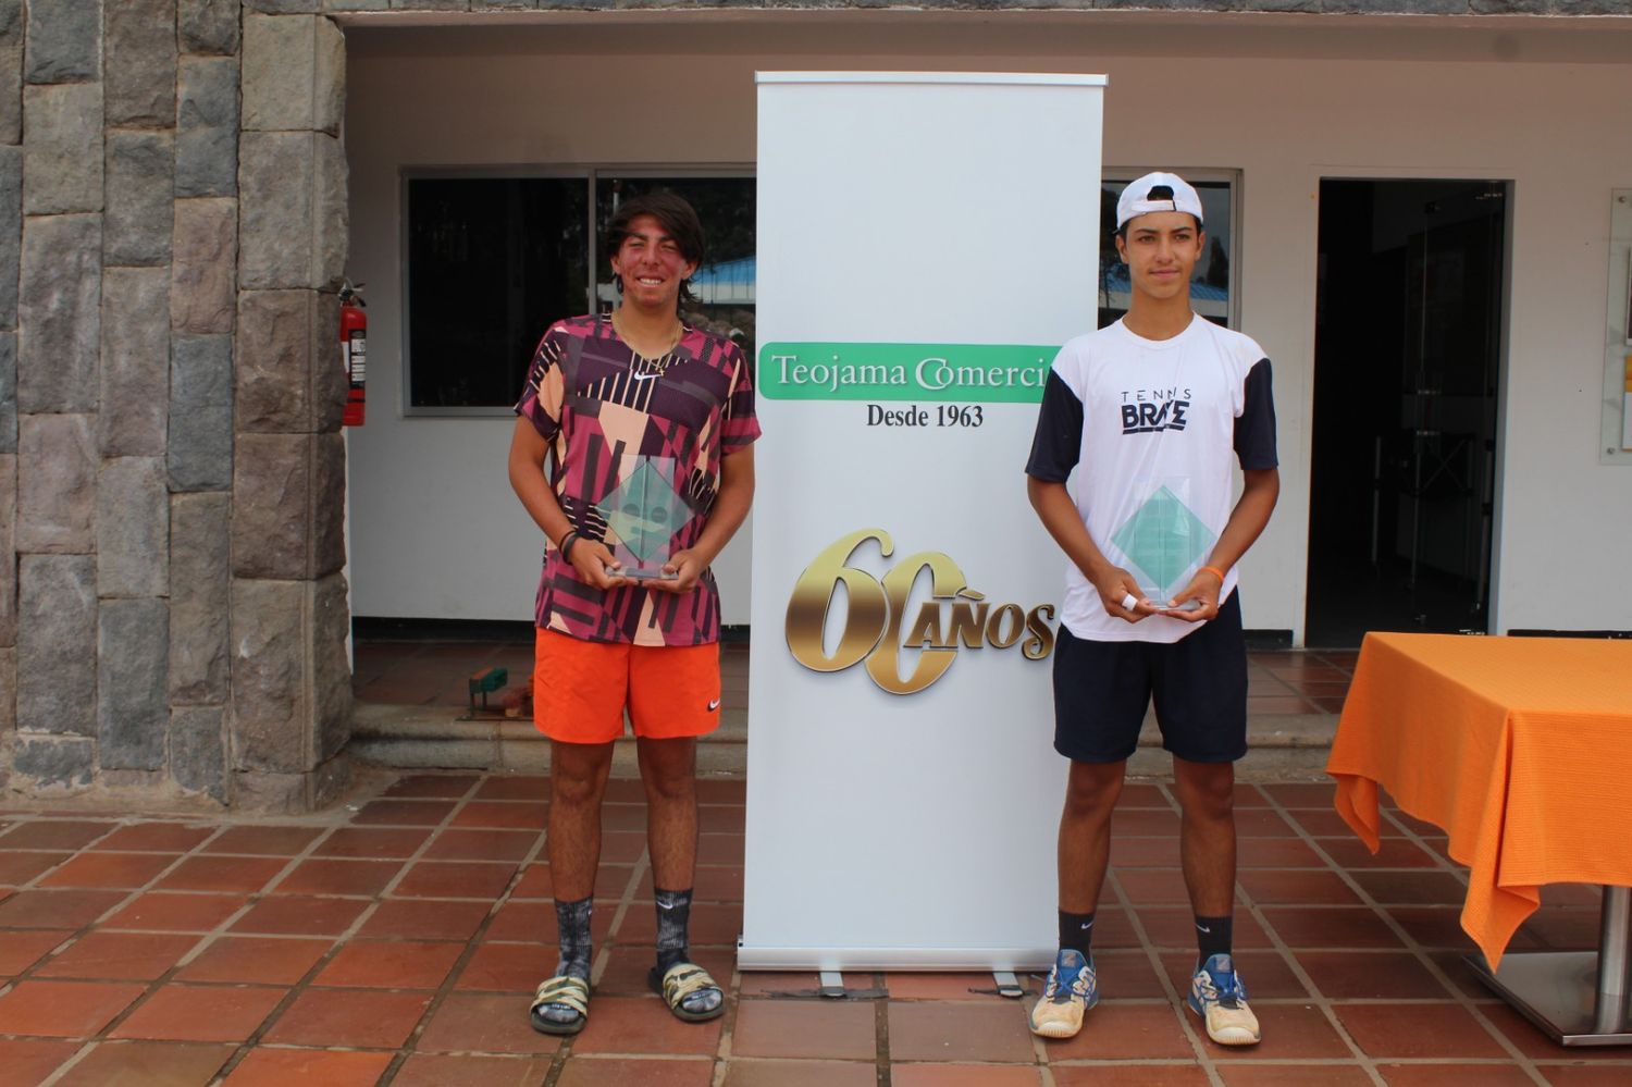
{"type": "Polygon", "coordinates": [[[509,478],[547,539],[534,717],[550,736],[548,860],[560,963],[535,1030],[589,1015],[601,800],[628,713],[646,790],[658,914],[651,986],[684,1020],[725,1010],[690,961],[697,736],[720,723],[720,594],[710,563],[754,496],[754,380],[730,339],[681,320],[703,258],[690,204],[625,201],[607,228],[622,305],[557,322],[516,405],[509,478]]]}

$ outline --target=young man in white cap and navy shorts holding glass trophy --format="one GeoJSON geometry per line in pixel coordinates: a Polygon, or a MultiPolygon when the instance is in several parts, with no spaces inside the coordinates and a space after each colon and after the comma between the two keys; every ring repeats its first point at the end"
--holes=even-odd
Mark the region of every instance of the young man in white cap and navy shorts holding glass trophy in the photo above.
{"type": "Polygon", "coordinates": [[[1128,313],[1061,348],[1027,462],[1031,506],[1071,560],[1054,650],[1054,748],[1071,759],[1061,950],[1031,1010],[1044,1038],[1075,1035],[1098,999],[1092,937],[1111,811],[1152,699],[1196,917],[1188,1004],[1221,1045],[1262,1036],[1231,948],[1234,761],[1247,751],[1235,563],[1279,495],[1275,405],[1262,348],[1190,308],[1204,246],[1201,199],[1182,178],[1151,173],[1123,191],[1128,313]],[[1234,504],[1232,460],[1245,477],[1234,504]]]}

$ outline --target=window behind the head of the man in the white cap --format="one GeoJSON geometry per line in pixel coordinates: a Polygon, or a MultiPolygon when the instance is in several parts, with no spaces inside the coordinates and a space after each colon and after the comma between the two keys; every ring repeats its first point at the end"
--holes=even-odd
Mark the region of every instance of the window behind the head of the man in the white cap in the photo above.
{"type": "MultiPolygon", "coordinates": [[[[1100,184],[1100,328],[1128,312],[1131,284],[1128,266],[1116,256],[1116,197],[1129,181],[1144,173],[1147,171],[1106,170],[1100,184]]],[[[1206,227],[1206,250],[1190,279],[1190,308],[1209,322],[1234,328],[1239,318],[1234,307],[1235,281],[1231,274],[1235,255],[1235,184],[1200,171],[1180,170],[1178,175],[1196,188],[1206,227]]]]}

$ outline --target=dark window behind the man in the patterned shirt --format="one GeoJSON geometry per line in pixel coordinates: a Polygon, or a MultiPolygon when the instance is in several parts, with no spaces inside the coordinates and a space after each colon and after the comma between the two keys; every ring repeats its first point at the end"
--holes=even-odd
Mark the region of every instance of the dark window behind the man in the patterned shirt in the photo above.
{"type": "Polygon", "coordinates": [[[410,176],[406,411],[508,411],[552,322],[617,305],[601,253],[605,225],[620,201],[654,189],[690,201],[708,238],[685,320],[731,336],[752,357],[751,176],[410,176]]]}

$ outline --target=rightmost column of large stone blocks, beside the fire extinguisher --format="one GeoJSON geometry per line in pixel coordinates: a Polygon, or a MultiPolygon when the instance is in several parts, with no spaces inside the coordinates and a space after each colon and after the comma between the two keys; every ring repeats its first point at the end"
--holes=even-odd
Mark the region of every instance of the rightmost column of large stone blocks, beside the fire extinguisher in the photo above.
{"type": "Polygon", "coordinates": [[[230,720],[235,787],[263,806],[308,806],[344,775],[344,57],[323,16],[245,11],[230,720]]]}

